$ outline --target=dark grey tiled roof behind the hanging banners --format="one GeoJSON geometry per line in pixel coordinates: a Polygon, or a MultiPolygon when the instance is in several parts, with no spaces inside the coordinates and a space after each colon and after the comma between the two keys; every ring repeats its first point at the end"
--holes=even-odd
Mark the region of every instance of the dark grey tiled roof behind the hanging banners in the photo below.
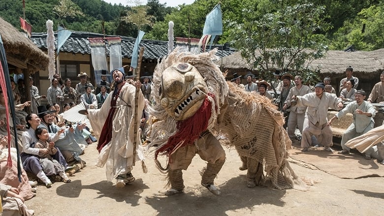
{"type": "MultiPolygon", "coordinates": [[[[91,54],[91,47],[88,41],[88,38],[103,37],[102,34],[90,33],[90,32],[81,32],[81,31],[72,31],[70,37],[65,41],[64,45],[60,48],[60,52],[68,53],[82,53],[82,54],[91,54]]],[[[105,35],[105,37],[121,37],[122,39],[122,56],[123,58],[131,58],[132,50],[136,38],[125,37],[125,36],[116,36],[116,35],[105,35]]],[[[55,46],[57,45],[57,32],[55,32],[55,46]]],[[[47,33],[32,33],[31,37],[32,42],[41,48],[47,49],[47,33]]],[[[109,47],[108,43],[106,46],[109,47]]],[[[144,49],[144,59],[160,59],[167,55],[168,53],[168,41],[160,40],[142,40],[139,47],[145,47],[144,49]]],[[[228,56],[235,52],[235,49],[230,48],[226,45],[215,46],[219,48],[219,51],[216,53],[218,56],[228,56]],[[221,50],[223,47],[223,51],[221,50]],[[222,55],[223,54],[223,55],[222,55]]],[[[213,49],[213,48],[212,48],[213,49]]],[[[109,56],[109,49],[107,49],[107,55],[109,56]]]]}

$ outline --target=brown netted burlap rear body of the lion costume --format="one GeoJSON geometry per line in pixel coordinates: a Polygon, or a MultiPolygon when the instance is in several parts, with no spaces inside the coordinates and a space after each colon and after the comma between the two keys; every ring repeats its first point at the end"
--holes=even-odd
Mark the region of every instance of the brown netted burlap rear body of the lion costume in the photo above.
{"type": "Polygon", "coordinates": [[[283,129],[283,114],[266,98],[255,93],[246,93],[228,82],[229,108],[221,133],[226,137],[222,143],[234,146],[241,156],[253,158],[249,164],[256,169],[256,183],[278,189],[294,186],[300,180],[287,161],[287,149],[291,141],[283,129]]]}

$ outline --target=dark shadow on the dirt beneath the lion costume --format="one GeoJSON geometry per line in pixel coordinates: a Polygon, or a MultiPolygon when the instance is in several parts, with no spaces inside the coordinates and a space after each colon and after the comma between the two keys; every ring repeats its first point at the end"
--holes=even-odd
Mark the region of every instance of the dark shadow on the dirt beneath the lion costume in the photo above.
{"type": "Polygon", "coordinates": [[[201,185],[195,185],[186,187],[184,194],[147,197],[146,203],[158,211],[158,216],[169,216],[170,212],[173,212],[172,215],[226,215],[227,211],[236,212],[244,208],[252,211],[254,206],[262,204],[285,205],[282,200],[285,190],[248,188],[244,179],[245,176],[241,175],[219,185],[222,192],[219,196],[201,185]]]}

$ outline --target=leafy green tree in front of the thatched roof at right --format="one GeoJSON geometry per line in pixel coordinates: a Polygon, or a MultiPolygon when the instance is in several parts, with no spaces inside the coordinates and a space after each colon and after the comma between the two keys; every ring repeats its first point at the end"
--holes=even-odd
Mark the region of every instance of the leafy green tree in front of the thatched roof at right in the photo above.
{"type": "Polygon", "coordinates": [[[274,67],[291,69],[307,78],[309,62],[322,58],[327,50],[325,36],[317,33],[331,28],[324,21],[324,7],[302,3],[277,5],[280,8],[270,11],[270,3],[273,1],[264,0],[257,11],[246,9],[242,23],[232,24],[233,45],[262,76],[270,77],[270,67],[274,67]]]}

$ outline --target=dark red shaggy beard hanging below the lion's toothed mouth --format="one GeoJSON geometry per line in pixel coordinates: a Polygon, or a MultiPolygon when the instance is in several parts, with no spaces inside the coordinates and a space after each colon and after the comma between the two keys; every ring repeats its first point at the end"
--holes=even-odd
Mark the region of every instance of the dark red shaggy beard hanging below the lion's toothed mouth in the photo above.
{"type": "MultiPolygon", "coordinates": [[[[209,95],[214,97],[213,94],[209,95]]],[[[208,97],[205,97],[203,104],[191,118],[177,122],[176,134],[169,137],[168,142],[156,151],[155,159],[157,159],[160,153],[169,156],[175,151],[176,146],[182,142],[184,143],[181,147],[193,144],[200,134],[207,129],[211,115],[211,101],[208,100],[208,97]]]]}

